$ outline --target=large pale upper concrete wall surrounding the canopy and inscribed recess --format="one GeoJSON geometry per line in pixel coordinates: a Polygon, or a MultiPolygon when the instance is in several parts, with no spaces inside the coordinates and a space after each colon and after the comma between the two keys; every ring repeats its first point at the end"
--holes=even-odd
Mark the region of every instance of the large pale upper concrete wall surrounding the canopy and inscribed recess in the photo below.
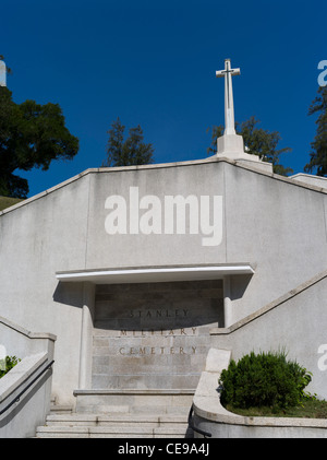
{"type": "MultiPolygon", "coordinates": [[[[231,280],[232,321],[326,268],[326,192],[227,161],[88,170],[0,213],[0,315],[58,337],[53,393],[72,402],[81,382],[83,283],[56,272],[142,266],[250,262],[253,276],[231,280]],[[108,235],[108,196],[222,196],[223,235],[108,235]]],[[[84,314],[85,317],[85,314],[84,314]]],[[[89,331],[89,325],[84,331],[89,331]]],[[[85,363],[83,381],[87,381],[85,363]]]]}

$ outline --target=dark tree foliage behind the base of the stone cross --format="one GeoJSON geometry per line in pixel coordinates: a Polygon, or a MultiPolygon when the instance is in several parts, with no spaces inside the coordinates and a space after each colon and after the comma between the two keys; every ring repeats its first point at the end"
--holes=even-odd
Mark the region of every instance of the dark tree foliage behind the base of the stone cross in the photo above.
{"type": "MultiPolygon", "coordinates": [[[[292,174],[293,170],[289,167],[283,167],[279,161],[282,153],[290,152],[291,149],[277,149],[279,141],[281,140],[279,132],[269,132],[262,128],[257,128],[259,120],[255,117],[251,117],[249,120],[242,123],[235,123],[235,131],[241,134],[244,140],[246,153],[250,155],[258,155],[264,162],[272,163],[275,174],[287,176],[292,174]]],[[[217,152],[217,138],[223,134],[223,127],[216,126],[213,128],[211,145],[207,149],[208,154],[215,154],[217,152]]]]}

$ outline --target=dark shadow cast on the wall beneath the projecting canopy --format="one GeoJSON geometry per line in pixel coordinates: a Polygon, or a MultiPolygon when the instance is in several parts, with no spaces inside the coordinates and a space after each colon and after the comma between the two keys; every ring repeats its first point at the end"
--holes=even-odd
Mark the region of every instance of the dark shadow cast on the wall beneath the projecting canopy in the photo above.
{"type": "MultiPolygon", "coordinates": [[[[252,274],[231,276],[231,300],[243,297],[251,279],[252,274]]],[[[53,300],[83,308],[83,282],[59,282],[53,300]]],[[[225,323],[222,280],[97,285],[95,300],[95,327],[101,329],[160,330],[172,325],[225,323]]]]}

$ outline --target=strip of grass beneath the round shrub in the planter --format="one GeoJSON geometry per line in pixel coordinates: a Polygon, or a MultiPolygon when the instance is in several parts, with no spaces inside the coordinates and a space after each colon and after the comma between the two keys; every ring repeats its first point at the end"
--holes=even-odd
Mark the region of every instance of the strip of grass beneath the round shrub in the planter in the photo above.
{"type": "Polygon", "coordinates": [[[227,404],[225,409],[243,416],[327,418],[327,401],[317,400],[314,397],[305,399],[300,405],[288,409],[268,406],[240,409],[231,404],[227,404]]]}

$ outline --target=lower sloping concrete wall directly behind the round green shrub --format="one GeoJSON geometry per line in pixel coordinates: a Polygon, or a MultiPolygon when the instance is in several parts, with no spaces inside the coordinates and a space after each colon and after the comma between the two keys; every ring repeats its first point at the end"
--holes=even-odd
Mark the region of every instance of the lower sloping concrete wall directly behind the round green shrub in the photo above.
{"type": "Polygon", "coordinates": [[[327,399],[327,271],[276,302],[213,333],[213,346],[238,361],[252,351],[284,351],[313,374],[306,390],[327,399]]]}

